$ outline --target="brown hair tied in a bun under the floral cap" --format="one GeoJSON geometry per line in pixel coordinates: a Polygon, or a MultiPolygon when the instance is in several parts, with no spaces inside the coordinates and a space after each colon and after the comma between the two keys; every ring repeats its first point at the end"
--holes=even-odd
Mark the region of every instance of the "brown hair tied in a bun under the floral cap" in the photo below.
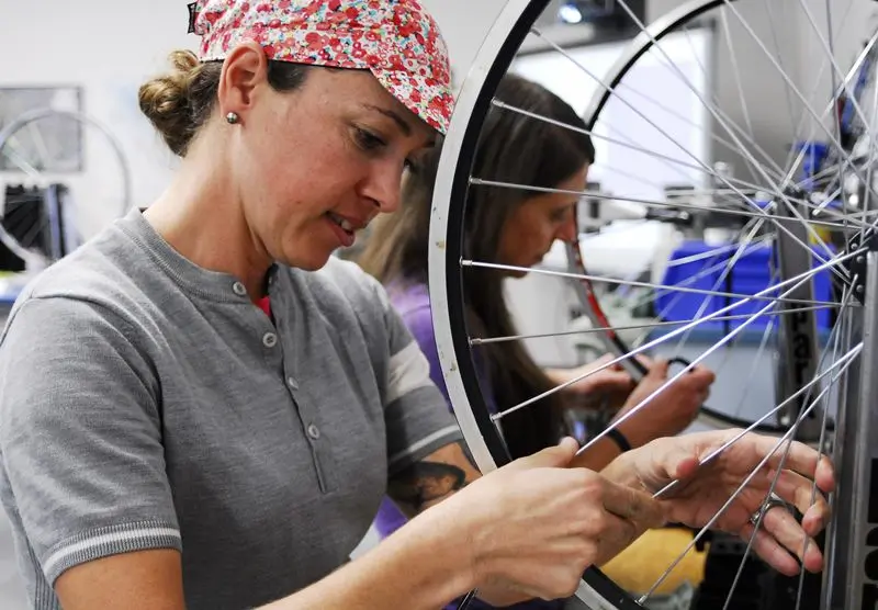
{"type": "MultiPolygon", "coordinates": [[[[216,105],[222,61],[199,61],[191,50],[170,54],[172,70],[140,86],[140,111],[165,138],[171,152],[185,156],[192,138],[216,105]]],[[[312,66],[290,61],[268,63],[268,81],[278,91],[293,91],[305,81],[312,66]]]]}

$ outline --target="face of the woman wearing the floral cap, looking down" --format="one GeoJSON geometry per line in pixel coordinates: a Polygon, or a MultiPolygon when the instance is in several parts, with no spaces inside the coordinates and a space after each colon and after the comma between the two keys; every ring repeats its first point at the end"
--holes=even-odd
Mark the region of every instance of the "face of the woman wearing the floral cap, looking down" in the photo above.
{"type": "Polygon", "coordinates": [[[259,249],[323,267],[381,212],[399,204],[407,161],[432,129],[359,70],[314,69],[293,92],[250,91],[232,168],[259,249]]]}

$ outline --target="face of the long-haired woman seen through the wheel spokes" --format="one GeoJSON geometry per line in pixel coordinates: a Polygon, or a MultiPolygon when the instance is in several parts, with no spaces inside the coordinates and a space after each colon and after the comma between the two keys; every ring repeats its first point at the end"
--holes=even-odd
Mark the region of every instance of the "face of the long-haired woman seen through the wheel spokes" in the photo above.
{"type": "MultiPolygon", "coordinates": [[[[587,178],[586,165],[554,188],[578,193],[585,190],[587,178]]],[[[574,239],[578,201],[579,196],[570,193],[545,193],[525,200],[506,218],[497,262],[529,269],[543,259],[555,239],[574,239]]],[[[522,270],[510,274],[520,278],[526,273],[522,270]]]]}

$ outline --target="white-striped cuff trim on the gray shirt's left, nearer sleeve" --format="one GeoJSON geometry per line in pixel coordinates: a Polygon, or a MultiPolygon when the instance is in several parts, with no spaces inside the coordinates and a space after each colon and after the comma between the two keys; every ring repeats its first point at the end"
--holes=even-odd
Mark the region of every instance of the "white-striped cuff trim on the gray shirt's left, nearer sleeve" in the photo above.
{"type": "Polygon", "coordinates": [[[91,530],[53,546],[43,561],[43,573],[54,584],[65,571],[79,564],[149,549],[182,551],[180,530],[164,521],[136,521],[91,530]]]}

